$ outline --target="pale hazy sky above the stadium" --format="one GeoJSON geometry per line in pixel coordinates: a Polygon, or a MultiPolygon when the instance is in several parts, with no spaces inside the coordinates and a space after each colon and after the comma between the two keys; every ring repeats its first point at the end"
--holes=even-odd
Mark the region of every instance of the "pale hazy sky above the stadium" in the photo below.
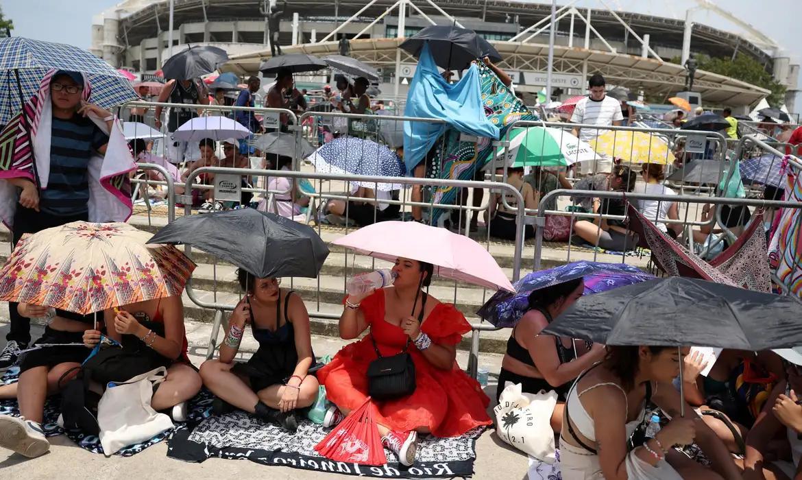
{"type": "MultiPolygon", "coordinates": [[[[423,0],[413,0],[422,2],[423,0]]],[[[548,3],[542,0],[529,0],[548,3]]],[[[685,11],[697,6],[697,0],[604,0],[614,10],[634,11],[664,17],[685,18],[685,11]]],[[[802,43],[796,30],[802,18],[800,0],[710,0],[738,18],[748,18],[749,22],[780,43],[797,62],[802,60],[802,43]]],[[[0,0],[3,13],[14,20],[12,35],[70,43],[76,47],[88,48],[91,43],[92,16],[114,6],[119,0],[0,0]]],[[[292,3],[292,0],[289,2],[292,3]]],[[[557,0],[565,5],[567,0],[557,0]]],[[[602,0],[578,0],[576,6],[604,8],[602,0]]],[[[693,14],[695,22],[706,23],[727,31],[736,31],[733,24],[717,14],[697,10],[693,14]]],[[[641,32],[638,32],[641,33],[641,32]]],[[[643,32],[648,33],[648,32],[643,32]]]]}

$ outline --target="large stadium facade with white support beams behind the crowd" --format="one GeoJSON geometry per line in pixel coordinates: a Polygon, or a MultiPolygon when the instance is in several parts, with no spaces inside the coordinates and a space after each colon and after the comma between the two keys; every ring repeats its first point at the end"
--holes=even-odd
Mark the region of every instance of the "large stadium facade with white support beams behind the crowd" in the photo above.
{"type": "MultiPolygon", "coordinates": [[[[232,59],[225,69],[242,75],[257,73],[259,63],[269,57],[265,14],[271,2],[173,0],[172,35],[169,4],[127,0],[96,15],[91,51],[115,67],[144,75],[158,70],[169,51],[188,45],[225,49],[232,59]]],[[[399,43],[432,23],[455,22],[493,43],[504,58],[500,67],[511,72],[521,91],[537,92],[545,86],[550,8],[500,0],[289,0],[280,43],[284,53],[325,56],[338,53],[338,39],[345,35],[351,40],[350,55],[380,69],[383,91],[394,92],[395,87],[403,95],[415,59],[399,53],[399,43]]],[[[563,97],[584,92],[587,76],[599,72],[610,84],[667,98],[684,89],[686,78],[684,67],[670,59],[743,54],[763,63],[788,87],[790,112],[802,110],[802,99],[797,101],[799,65],[771,39],[731,15],[743,26],[739,34],[674,18],[570,4],[558,7],[557,18],[553,87],[563,97]]],[[[763,88],[705,71],[696,72],[694,90],[706,106],[739,111],[768,95],[763,88]]]]}

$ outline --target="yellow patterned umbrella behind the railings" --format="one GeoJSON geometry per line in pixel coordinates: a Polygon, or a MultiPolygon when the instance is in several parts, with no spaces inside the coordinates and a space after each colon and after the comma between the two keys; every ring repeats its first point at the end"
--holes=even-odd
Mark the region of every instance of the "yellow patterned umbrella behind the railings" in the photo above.
{"type": "Polygon", "coordinates": [[[590,146],[599,155],[622,158],[632,163],[668,165],[674,162],[674,153],[661,136],[629,130],[615,131],[597,136],[590,146]]]}

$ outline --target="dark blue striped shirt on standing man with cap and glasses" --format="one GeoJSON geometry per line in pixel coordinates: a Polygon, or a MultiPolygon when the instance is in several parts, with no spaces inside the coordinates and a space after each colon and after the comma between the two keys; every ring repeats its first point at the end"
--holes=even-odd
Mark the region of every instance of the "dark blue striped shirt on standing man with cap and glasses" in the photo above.
{"type": "Polygon", "coordinates": [[[108,136],[86,117],[53,117],[51,164],[39,209],[58,216],[84,214],[89,202],[89,159],[108,143],[108,136]]]}

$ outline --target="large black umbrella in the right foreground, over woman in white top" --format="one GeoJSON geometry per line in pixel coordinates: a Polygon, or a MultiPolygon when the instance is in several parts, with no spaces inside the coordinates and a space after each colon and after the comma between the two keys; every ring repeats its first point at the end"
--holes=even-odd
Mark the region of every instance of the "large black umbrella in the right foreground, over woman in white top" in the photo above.
{"type": "Polygon", "coordinates": [[[606,345],[756,352],[802,344],[800,307],[790,296],[668,277],[582,297],[543,332],[606,345]]]}

